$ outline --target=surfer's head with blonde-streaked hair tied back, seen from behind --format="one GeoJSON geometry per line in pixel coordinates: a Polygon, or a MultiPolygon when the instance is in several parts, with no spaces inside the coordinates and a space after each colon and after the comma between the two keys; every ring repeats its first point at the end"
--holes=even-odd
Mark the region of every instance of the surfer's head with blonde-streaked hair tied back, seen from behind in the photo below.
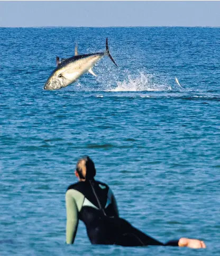
{"type": "Polygon", "coordinates": [[[91,180],[96,175],[95,164],[88,156],[80,158],[76,164],[75,174],[80,181],[91,180]]]}

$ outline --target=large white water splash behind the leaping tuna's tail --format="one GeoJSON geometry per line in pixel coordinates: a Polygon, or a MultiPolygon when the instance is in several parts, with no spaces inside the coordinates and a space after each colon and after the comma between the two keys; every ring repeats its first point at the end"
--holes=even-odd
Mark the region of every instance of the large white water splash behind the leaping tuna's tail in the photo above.
{"type": "Polygon", "coordinates": [[[135,78],[129,75],[126,80],[118,81],[115,88],[107,88],[106,92],[160,92],[172,90],[171,86],[157,83],[154,80],[153,75],[141,72],[135,78]]]}

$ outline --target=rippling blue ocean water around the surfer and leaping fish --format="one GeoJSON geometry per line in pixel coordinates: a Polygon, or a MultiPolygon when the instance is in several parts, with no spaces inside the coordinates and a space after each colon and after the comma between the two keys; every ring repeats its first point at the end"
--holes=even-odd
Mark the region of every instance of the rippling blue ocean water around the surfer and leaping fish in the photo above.
{"type": "Polygon", "coordinates": [[[220,29],[0,28],[0,255],[220,255],[220,29]],[[77,83],[43,90],[56,56],[105,50],[77,83]],[[182,87],[175,82],[178,78],[182,87]],[[65,244],[79,157],[120,216],[162,242],[206,250],[65,244]]]}

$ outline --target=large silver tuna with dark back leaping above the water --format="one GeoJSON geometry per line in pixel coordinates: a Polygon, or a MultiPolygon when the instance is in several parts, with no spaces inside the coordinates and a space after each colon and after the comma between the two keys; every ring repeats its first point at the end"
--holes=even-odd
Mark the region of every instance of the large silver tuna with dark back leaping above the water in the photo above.
{"type": "MultiPolygon", "coordinates": [[[[52,71],[44,90],[57,90],[74,83],[81,75],[89,72],[93,76],[93,66],[104,56],[108,56],[117,66],[108,49],[108,38],[106,38],[106,51],[89,54],[78,55],[77,45],[75,48],[75,56],[61,59],[57,57],[57,67],[52,71]]],[[[118,66],[117,66],[118,67],[118,66]]]]}

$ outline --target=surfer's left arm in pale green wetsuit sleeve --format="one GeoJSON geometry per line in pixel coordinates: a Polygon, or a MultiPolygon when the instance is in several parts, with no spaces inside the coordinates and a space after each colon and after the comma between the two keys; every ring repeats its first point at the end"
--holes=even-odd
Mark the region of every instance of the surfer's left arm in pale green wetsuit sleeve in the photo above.
{"type": "Polygon", "coordinates": [[[74,243],[77,227],[79,223],[78,208],[76,199],[74,197],[75,190],[70,189],[66,192],[66,211],[67,211],[67,225],[66,225],[66,243],[74,243]]]}

